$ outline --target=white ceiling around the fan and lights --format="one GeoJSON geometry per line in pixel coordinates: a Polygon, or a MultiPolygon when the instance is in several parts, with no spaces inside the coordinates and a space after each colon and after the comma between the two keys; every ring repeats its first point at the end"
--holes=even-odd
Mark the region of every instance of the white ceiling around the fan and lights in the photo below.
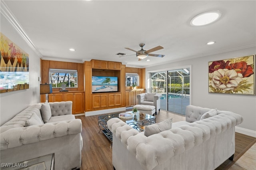
{"type": "Polygon", "coordinates": [[[256,1],[237,0],[4,0],[43,59],[83,62],[119,61],[147,67],[256,46],[256,1]],[[195,15],[220,10],[220,20],[208,26],[190,26],[195,15]],[[215,41],[214,45],[206,45],[215,41]],[[158,45],[138,61],[135,52],[158,45]],[[69,51],[74,48],[76,51],[69,51]],[[118,57],[116,53],[126,53],[118,57]]]}

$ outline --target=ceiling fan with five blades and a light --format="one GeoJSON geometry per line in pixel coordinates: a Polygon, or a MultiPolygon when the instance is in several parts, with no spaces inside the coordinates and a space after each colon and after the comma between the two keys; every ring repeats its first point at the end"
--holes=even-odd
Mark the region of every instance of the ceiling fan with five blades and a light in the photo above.
{"type": "MultiPolygon", "coordinates": [[[[131,50],[131,51],[136,52],[136,56],[139,58],[139,61],[142,60],[142,59],[144,59],[144,58],[146,58],[146,57],[148,57],[148,56],[164,57],[164,55],[161,55],[161,54],[150,54],[151,52],[157,51],[157,50],[159,50],[159,49],[163,49],[164,47],[162,47],[162,46],[159,45],[159,46],[154,47],[154,48],[152,48],[152,49],[144,50],[144,49],[143,49],[144,45],[145,45],[144,43],[140,43],[141,49],[140,49],[139,51],[135,51],[135,50],[130,49],[130,48],[125,48],[125,49],[129,49],[129,50],[131,50]]],[[[133,54],[133,55],[135,55],[135,54],[133,54]]],[[[129,55],[124,55],[124,56],[120,56],[120,57],[125,57],[125,56],[129,56],[129,55]]]]}

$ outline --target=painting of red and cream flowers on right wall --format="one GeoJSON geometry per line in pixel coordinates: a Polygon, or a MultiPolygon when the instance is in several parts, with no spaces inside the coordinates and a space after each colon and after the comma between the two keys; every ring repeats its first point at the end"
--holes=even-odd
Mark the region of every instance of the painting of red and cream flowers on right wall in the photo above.
{"type": "Polygon", "coordinates": [[[209,62],[209,93],[255,95],[255,55],[209,62]]]}

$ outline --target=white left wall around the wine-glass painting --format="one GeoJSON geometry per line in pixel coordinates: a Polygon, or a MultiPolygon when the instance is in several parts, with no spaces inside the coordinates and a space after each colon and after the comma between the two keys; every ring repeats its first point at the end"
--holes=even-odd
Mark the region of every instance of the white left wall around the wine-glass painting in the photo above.
{"type": "Polygon", "coordinates": [[[0,31],[29,55],[29,89],[0,94],[0,125],[28,105],[40,102],[40,57],[1,14],[0,31]]]}

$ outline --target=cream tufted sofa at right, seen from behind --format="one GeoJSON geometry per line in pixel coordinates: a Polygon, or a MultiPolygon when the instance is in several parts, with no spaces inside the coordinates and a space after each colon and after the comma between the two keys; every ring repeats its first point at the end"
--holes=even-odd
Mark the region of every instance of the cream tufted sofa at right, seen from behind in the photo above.
{"type": "Polygon", "coordinates": [[[113,166],[116,170],[214,170],[232,159],[235,126],[243,118],[217,110],[217,115],[200,120],[210,110],[190,105],[186,121],[148,137],[118,118],[110,119],[107,124],[113,133],[113,166]]]}

